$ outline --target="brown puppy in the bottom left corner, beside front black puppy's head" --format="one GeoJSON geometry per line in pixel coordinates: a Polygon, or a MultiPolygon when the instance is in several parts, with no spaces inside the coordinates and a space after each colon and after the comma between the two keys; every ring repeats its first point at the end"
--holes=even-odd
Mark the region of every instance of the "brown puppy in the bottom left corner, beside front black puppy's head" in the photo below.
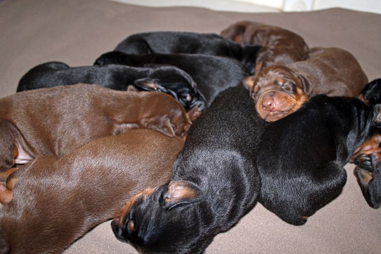
{"type": "Polygon", "coordinates": [[[123,200],[167,182],[182,146],[177,136],[136,129],[19,167],[8,177],[17,180],[13,197],[0,205],[0,253],[62,252],[123,200]]]}

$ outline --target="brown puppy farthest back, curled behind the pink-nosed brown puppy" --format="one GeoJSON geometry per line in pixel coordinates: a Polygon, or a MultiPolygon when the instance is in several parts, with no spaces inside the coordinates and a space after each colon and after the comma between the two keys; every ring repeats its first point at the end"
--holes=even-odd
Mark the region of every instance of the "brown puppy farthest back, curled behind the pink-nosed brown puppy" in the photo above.
{"type": "Polygon", "coordinates": [[[221,35],[241,44],[257,44],[256,73],[273,65],[304,60],[309,48],[304,39],[294,32],[273,25],[240,21],[221,31],[221,35]]]}

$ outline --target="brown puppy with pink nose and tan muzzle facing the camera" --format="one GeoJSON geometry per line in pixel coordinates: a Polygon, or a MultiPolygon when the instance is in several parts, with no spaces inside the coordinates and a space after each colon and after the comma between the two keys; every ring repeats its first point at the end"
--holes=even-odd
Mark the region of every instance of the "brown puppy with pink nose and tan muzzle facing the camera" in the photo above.
{"type": "Polygon", "coordinates": [[[259,116],[276,121],[315,94],[357,97],[368,79],[359,62],[339,48],[312,48],[309,58],[263,69],[244,80],[259,116]]]}

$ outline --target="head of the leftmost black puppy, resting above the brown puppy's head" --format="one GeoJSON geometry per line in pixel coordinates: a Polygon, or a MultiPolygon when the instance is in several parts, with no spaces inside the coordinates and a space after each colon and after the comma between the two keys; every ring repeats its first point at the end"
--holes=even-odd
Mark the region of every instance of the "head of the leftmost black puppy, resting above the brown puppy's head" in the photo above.
{"type": "Polygon", "coordinates": [[[153,71],[149,77],[134,82],[138,89],[165,92],[175,98],[186,111],[195,111],[197,108],[201,113],[205,109],[205,97],[186,72],[166,65],[145,65],[145,67],[152,68],[153,71]]]}

